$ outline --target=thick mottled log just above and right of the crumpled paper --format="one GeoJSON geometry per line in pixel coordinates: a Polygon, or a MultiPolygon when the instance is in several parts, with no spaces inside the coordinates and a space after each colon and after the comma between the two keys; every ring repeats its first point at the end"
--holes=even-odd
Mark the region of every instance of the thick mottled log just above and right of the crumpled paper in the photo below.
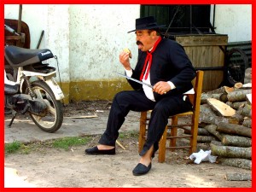
{"type": "Polygon", "coordinates": [[[232,146],[217,146],[211,144],[212,155],[230,158],[252,159],[252,148],[239,148],[232,146]]]}

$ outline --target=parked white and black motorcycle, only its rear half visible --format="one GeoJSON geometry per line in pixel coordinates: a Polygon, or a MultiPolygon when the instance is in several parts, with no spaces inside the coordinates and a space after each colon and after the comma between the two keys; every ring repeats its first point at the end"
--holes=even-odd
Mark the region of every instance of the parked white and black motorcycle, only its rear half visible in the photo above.
{"type": "Polygon", "coordinates": [[[49,49],[26,49],[5,44],[5,113],[29,113],[40,129],[55,132],[63,121],[60,86],[55,82],[55,67],[46,63],[56,57],[49,49]]]}

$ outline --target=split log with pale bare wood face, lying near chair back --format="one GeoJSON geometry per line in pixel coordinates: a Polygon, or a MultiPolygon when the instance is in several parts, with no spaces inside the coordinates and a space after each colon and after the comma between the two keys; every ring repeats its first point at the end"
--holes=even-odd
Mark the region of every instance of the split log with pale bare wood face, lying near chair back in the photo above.
{"type": "Polygon", "coordinates": [[[218,113],[218,115],[221,115],[224,117],[231,117],[234,114],[236,114],[235,109],[230,108],[230,106],[228,106],[224,102],[218,101],[217,99],[209,98],[207,99],[207,103],[215,113],[218,113]]]}

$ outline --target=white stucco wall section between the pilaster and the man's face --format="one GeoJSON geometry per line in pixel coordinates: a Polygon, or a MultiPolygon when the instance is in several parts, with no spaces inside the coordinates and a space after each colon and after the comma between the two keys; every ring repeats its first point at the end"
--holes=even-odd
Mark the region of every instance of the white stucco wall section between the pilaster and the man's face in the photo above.
{"type": "Polygon", "coordinates": [[[135,66],[134,32],[138,5],[72,5],[70,13],[70,73],[72,79],[113,79],[123,72],[119,53],[131,49],[135,66]],[[78,72],[79,73],[76,73],[78,72]]]}

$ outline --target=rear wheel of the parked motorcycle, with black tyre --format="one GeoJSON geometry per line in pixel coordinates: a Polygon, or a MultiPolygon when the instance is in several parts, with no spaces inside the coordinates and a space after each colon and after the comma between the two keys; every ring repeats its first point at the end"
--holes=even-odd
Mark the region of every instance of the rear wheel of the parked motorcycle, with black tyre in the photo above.
{"type": "MultiPolygon", "coordinates": [[[[30,113],[33,122],[46,132],[59,130],[63,121],[61,102],[55,99],[53,91],[44,81],[34,81],[31,86],[37,98],[43,99],[47,105],[47,113],[44,117],[30,113]]],[[[28,93],[28,90],[26,90],[26,93],[28,93]]]]}

